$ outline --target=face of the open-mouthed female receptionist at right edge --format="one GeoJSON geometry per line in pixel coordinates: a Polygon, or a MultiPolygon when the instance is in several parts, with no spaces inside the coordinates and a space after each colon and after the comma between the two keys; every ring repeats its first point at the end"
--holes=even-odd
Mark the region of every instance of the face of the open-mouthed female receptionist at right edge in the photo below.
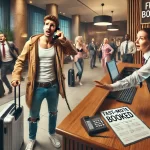
{"type": "Polygon", "coordinates": [[[150,39],[148,39],[148,34],[143,30],[138,32],[135,43],[137,51],[141,50],[143,53],[146,53],[150,50],[150,39]]]}

